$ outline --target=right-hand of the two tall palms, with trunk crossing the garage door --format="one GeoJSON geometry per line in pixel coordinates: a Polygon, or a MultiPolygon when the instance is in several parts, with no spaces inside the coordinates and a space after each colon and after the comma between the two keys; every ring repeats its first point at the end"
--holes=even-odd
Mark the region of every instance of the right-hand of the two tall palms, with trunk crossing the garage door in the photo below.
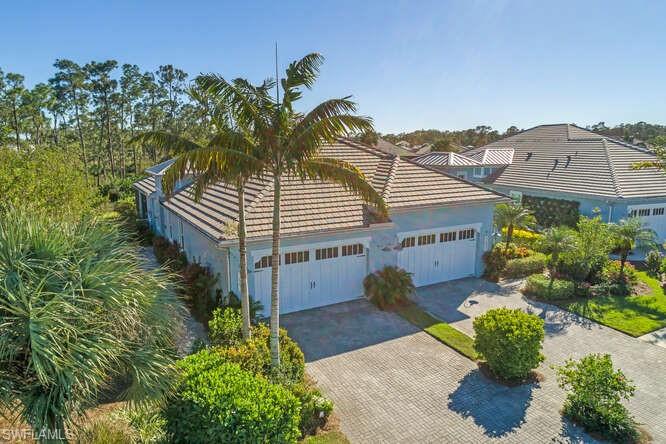
{"type": "Polygon", "coordinates": [[[302,97],[302,89],[311,89],[314,85],[322,63],[321,55],[308,54],[288,66],[279,86],[274,81],[264,82],[263,86],[276,85],[275,99],[265,94],[263,88],[257,92],[257,88],[245,80],[228,82],[217,75],[199,78],[200,85],[208,93],[231,103],[234,118],[239,125],[251,128],[251,138],[265,152],[262,160],[266,175],[272,176],[270,346],[274,369],[280,365],[280,192],[283,176],[338,183],[374,205],[380,216],[387,213],[384,200],[358,168],[348,162],[319,155],[324,144],[332,143],[339,137],[371,131],[371,119],[354,115],[356,104],[349,97],[324,101],[307,114],[294,109],[295,103],[302,97]]]}

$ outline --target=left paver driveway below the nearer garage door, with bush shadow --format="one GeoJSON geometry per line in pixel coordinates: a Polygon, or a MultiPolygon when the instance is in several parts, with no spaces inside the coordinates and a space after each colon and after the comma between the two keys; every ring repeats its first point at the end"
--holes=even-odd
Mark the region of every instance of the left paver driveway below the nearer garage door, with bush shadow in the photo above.
{"type": "Polygon", "coordinates": [[[467,358],[363,300],[282,320],[352,442],[591,441],[557,413],[564,396],[554,380],[496,385],[467,358]]]}

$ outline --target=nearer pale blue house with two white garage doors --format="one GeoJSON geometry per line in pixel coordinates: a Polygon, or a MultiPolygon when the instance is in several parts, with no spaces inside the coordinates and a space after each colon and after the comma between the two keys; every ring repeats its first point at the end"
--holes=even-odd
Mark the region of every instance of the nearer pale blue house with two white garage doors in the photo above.
{"type": "MultiPolygon", "coordinates": [[[[386,265],[413,273],[417,286],[478,276],[493,241],[493,211],[508,197],[478,185],[348,140],[322,155],[356,165],[390,207],[377,220],[356,196],[332,183],[284,177],[282,181],[281,311],[355,299],[363,279],[386,265]]],[[[168,162],[134,184],[141,217],[177,242],[190,261],[209,267],[223,292],[238,293],[234,187],[219,183],[193,200],[184,181],[166,200],[161,180],[168,162]]],[[[270,308],[273,186],[252,180],[246,190],[250,294],[270,308]]]]}

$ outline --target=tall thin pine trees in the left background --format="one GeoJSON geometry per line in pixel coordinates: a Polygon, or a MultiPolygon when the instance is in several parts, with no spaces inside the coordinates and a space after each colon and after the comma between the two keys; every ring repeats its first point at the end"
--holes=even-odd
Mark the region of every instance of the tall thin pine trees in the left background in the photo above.
{"type": "Polygon", "coordinates": [[[86,177],[123,178],[168,153],[130,146],[142,131],[198,139],[207,130],[201,103],[191,99],[188,74],[167,64],[155,71],[116,60],[78,64],[58,59],[55,72],[32,88],[0,68],[0,146],[73,150],[86,177]]]}

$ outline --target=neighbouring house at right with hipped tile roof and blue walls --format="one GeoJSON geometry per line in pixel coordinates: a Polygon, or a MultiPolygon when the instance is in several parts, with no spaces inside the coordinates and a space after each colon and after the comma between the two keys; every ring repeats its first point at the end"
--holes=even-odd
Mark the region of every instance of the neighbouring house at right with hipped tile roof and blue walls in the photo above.
{"type": "Polygon", "coordinates": [[[608,222],[639,216],[666,240],[666,174],[634,170],[655,160],[644,147],[571,124],[540,125],[460,154],[430,153],[415,162],[483,183],[515,199],[570,202],[608,222]]]}

